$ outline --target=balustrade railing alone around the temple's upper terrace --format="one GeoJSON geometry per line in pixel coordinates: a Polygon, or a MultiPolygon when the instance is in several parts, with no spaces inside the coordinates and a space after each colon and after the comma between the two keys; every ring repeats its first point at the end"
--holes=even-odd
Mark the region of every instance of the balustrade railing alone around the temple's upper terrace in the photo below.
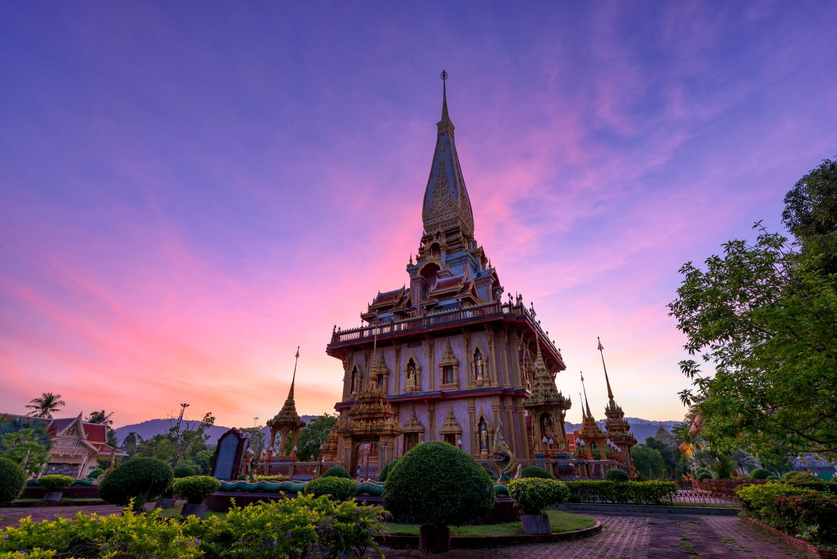
{"type": "Polygon", "coordinates": [[[360,326],[349,330],[336,330],[331,336],[331,344],[341,344],[347,341],[360,341],[372,338],[373,336],[386,336],[388,334],[399,334],[409,331],[419,331],[430,326],[453,325],[459,322],[470,322],[475,319],[489,318],[491,316],[515,316],[526,320],[540,333],[543,340],[547,341],[552,352],[561,356],[561,352],[552,344],[541,325],[531,315],[522,303],[485,303],[455,310],[441,310],[424,316],[404,319],[403,321],[381,322],[376,325],[360,326]]]}

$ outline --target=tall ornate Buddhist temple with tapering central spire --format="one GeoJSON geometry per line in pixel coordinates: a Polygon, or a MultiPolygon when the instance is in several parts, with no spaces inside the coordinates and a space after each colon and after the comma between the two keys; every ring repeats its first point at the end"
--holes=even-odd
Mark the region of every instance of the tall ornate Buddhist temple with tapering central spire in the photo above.
{"type": "Polygon", "coordinates": [[[563,413],[571,403],[555,387],[566,366],[534,305],[521,295],[503,300],[498,271],[475,238],[447,77],[408,282],[375,291],[363,326],[335,326],[326,346],[344,371],[329,456],[352,475],[360,452],[383,467],[423,441],[491,459],[499,426],[517,458],[567,449],[563,413]]]}

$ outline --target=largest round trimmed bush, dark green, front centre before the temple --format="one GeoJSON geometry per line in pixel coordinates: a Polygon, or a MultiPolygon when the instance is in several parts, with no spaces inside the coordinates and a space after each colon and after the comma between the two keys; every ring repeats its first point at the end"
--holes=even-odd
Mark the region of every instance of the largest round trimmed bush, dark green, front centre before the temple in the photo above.
{"type": "Polygon", "coordinates": [[[384,508],[424,526],[457,526],[494,508],[490,474],[452,444],[419,444],[398,459],[383,484],[384,508]]]}

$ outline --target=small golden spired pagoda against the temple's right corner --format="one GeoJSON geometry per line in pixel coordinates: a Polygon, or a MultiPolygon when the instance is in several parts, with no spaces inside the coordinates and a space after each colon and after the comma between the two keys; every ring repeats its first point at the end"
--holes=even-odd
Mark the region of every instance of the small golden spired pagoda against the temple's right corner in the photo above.
{"type": "Polygon", "coordinates": [[[535,345],[535,382],[531,395],[522,404],[531,416],[531,452],[536,455],[566,453],[568,448],[564,418],[573,403],[555,387],[555,380],[544,365],[541,343],[537,338],[535,345]]]}

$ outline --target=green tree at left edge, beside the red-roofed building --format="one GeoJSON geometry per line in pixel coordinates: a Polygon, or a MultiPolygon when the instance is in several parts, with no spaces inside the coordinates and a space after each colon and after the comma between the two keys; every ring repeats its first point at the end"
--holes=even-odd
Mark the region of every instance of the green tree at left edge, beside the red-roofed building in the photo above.
{"type": "Polygon", "coordinates": [[[36,475],[49,463],[52,438],[47,423],[37,419],[0,417],[0,457],[20,464],[28,475],[36,475]]]}

